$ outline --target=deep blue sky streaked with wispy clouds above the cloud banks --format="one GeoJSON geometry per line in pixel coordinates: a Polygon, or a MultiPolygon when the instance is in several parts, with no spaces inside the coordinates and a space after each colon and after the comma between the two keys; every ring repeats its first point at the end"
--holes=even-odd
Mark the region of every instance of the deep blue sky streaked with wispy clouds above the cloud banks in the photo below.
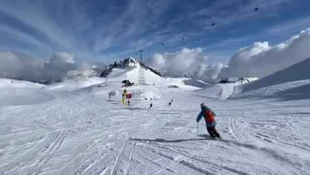
{"type": "Polygon", "coordinates": [[[201,47],[227,61],[241,47],[309,28],[309,7],[310,0],[1,0],[0,51],[107,62],[139,49],[148,57],[201,47]]]}

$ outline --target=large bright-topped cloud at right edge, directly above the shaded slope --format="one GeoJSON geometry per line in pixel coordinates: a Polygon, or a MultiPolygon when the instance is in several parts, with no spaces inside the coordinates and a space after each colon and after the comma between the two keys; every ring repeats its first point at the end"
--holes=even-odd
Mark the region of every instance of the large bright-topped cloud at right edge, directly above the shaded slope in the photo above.
{"type": "Polygon", "coordinates": [[[264,77],[310,57],[310,28],[276,46],[256,42],[242,48],[220,73],[222,77],[264,77]]]}

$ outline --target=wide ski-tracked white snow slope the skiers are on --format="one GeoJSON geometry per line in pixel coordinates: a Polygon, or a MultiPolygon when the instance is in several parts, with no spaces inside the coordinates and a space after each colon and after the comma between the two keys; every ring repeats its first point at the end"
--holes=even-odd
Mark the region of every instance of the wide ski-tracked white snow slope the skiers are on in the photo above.
{"type": "Polygon", "coordinates": [[[221,100],[234,86],[197,90],[154,75],[149,81],[155,85],[127,89],[133,94],[128,106],[121,105],[121,80],[132,75],[113,73],[108,83],[94,78],[41,86],[0,79],[0,174],[310,174],[310,98],[221,100]],[[196,135],[202,102],[217,113],[223,140],[210,139],[203,120],[196,135]]]}

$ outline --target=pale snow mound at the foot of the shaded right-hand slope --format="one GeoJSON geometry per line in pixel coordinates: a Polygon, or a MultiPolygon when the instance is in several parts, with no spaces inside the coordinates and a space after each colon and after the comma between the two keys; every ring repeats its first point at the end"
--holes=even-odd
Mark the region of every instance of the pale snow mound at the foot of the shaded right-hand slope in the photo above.
{"type": "Polygon", "coordinates": [[[226,100],[234,93],[235,86],[236,84],[233,83],[210,85],[207,88],[195,90],[193,95],[226,100]]]}

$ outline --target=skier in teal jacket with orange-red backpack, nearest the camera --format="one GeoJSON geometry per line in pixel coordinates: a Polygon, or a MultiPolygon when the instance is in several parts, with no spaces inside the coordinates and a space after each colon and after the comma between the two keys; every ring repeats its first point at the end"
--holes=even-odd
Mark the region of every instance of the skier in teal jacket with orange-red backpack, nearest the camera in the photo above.
{"type": "Polygon", "coordinates": [[[213,139],[215,138],[221,139],[220,134],[215,129],[215,126],[216,126],[216,121],[214,119],[214,117],[216,116],[215,112],[211,110],[210,108],[208,108],[207,105],[205,105],[204,103],[200,104],[200,107],[201,107],[201,112],[197,116],[197,119],[196,119],[197,124],[199,123],[201,118],[204,117],[206,121],[207,131],[210,137],[213,139]]]}

